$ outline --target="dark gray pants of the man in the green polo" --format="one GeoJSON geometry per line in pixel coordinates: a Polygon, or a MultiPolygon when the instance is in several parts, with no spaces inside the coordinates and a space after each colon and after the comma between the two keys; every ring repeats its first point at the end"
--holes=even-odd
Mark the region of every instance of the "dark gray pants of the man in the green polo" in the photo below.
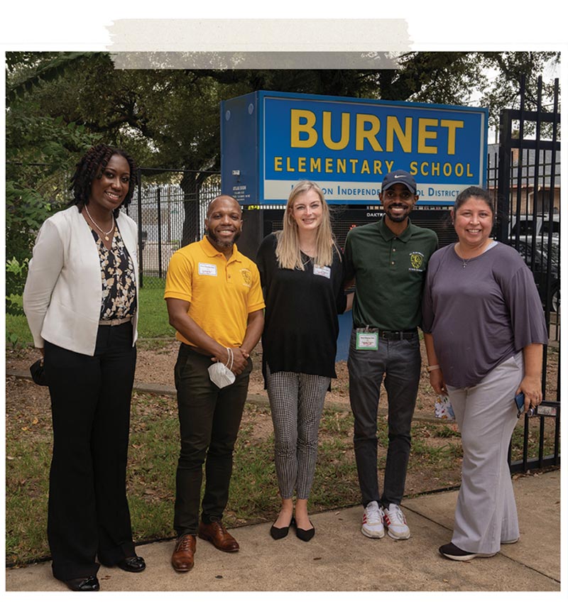
{"type": "Polygon", "coordinates": [[[410,456],[410,428],[420,381],[420,341],[379,339],[377,351],[358,351],[356,331],[349,345],[349,401],[355,417],[354,447],[361,503],[396,503],[404,495],[410,456]],[[388,451],[383,494],[378,494],[377,409],[385,378],[388,396],[388,451]]]}

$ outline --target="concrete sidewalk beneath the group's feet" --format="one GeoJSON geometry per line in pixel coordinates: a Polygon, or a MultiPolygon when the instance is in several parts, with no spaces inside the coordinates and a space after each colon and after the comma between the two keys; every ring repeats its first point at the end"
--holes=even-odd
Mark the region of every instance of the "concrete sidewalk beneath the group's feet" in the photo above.
{"type": "MultiPolygon", "coordinates": [[[[315,537],[293,530],[275,541],[271,523],[231,530],[240,552],[225,554],[197,539],[195,567],[170,566],[173,542],[138,547],[141,574],[99,570],[102,591],[560,591],[560,471],[513,481],[520,541],[490,559],[449,561],[437,548],[451,538],[457,491],[403,502],[407,541],[368,539],[359,532],[361,507],[312,516],[315,537]],[[543,500],[546,498],[546,500],[543,500]]],[[[6,569],[6,591],[67,591],[51,564],[6,569]]],[[[557,606],[560,595],[547,596],[557,606]]],[[[558,603],[559,604],[559,603],[558,603]]]]}

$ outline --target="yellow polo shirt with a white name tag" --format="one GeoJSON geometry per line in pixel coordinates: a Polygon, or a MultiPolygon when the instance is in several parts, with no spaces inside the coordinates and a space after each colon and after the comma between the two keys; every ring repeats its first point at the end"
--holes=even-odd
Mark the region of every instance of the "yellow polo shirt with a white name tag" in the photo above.
{"type": "MultiPolygon", "coordinates": [[[[243,344],[249,313],[264,308],[256,264],[233,246],[227,260],[207,237],[180,248],[170,259],[164,298],[190,302],[188,315],[225,347],[243,344]]],[[[179,332],[178,340],[192,344],[179,332]]]]}

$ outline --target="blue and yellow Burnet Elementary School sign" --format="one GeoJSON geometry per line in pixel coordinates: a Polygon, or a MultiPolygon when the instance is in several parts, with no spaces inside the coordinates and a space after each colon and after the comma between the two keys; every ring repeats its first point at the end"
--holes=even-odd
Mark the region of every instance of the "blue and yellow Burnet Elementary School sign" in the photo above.
{"type": "Polygon", "coordinates": [[[222,191],[262,209],[309,179],[329,203],[376,205],[403,169],[419,205],[447,206],[484,186],[487,124],[484,108],[256,91],[221,104],[222,191]]]}

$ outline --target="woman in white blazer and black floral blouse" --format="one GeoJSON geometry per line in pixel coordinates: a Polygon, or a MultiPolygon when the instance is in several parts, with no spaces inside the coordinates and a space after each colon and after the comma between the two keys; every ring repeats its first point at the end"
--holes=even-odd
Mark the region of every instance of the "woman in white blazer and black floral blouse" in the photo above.
{"type": "Polygon", "coordinates": [[[136,165],[99,144],[77,163],[70,207],[41,227],[23,309],[44,357],[53,417],[48,539],[53,575],[97,591],[99,563],[138,572],[126,500],[136,366],[138,230],[119,211],[136,165]]]}

